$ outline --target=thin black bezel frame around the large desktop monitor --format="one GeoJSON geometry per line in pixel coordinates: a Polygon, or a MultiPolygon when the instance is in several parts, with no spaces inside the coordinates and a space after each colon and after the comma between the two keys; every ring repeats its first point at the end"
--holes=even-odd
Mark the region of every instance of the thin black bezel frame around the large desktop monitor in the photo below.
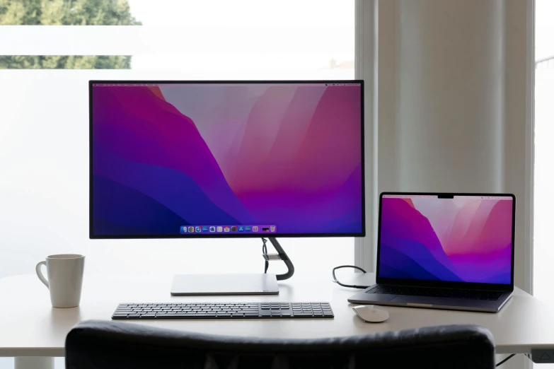
{"type": "Polygon", "coordinates": [[[108,240],[108,239],[163,239],[163,238],[317,238],[317,237],[365,237],[366,235],[366,194],[365,194],[365,124],[364,124],[364,81],[361,79],[352,80],[251,80],[251,81],[164,81],[164,80],[91,80],[88,81],[88,237],[91,240],[108,240]],[[264,83],[286,83],[286,84],[302,84],[302,83],[360,83],[361,86],[361,163],[362,163],[362,232],[359,233],[237,233],[237,234],[174,234],[174,235],[95,235],[93,234],[93,85],[96,83],[113,83],[113,84],[264,84],[264,83]]]}

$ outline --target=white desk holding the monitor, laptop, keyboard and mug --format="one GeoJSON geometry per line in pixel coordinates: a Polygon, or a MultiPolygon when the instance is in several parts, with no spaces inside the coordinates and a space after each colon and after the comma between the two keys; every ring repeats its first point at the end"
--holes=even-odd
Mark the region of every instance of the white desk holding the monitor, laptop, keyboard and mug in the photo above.
{"type": "MultiPolygon", "coordinates": [[[[353,305],[347,303],[347,298],[357,290],[337,286],[329,275],[311,280],[293,276],[279,283],[279,295],[254,296],[171,296],[171,279],[170,275],[86,274],[81,306],[71,309],[51,307],[47,288],[35,275],[0,279],[0,356],[64,356],[65,336],[77,322],[110,320],[118,303],[170,301],[328,301],[335,319],[128,322],[211,334],[294,338],[350,336],[442,324],[481,324],[495,336],[497,353],[529,353],[531,348],[554,347],[554,308],[519,288],[496,314],[387,307],[391,314],[389,320],[370,324],[354,315],[353,305]]],[[[17,363],[16,360],[16,367],[17,363]]]]}

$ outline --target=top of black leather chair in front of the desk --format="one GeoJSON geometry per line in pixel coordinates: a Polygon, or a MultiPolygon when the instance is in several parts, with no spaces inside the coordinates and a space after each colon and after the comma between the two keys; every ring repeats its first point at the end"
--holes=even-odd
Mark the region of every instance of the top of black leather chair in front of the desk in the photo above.
{"type": "Polygon", "coordinates": [[[90,320],[67,335],[67,369],[491,369],[485,327],[451,325],[322,339],[212,336],[90,320]]]}

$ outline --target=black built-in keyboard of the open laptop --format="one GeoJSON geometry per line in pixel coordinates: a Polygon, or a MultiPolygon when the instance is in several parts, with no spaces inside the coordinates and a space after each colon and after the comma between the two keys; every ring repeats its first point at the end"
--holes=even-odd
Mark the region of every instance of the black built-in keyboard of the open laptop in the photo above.
{"type": "Polygon", "coordinates": [[[499,291],[470,291],[444,288],[425,288],[409,286],[383,286],[377,285],[366,293],[381,293],[384,295],[429,296],[443,298],[466,298],[469,300],[496,301],[504,292],[499,291]]]}

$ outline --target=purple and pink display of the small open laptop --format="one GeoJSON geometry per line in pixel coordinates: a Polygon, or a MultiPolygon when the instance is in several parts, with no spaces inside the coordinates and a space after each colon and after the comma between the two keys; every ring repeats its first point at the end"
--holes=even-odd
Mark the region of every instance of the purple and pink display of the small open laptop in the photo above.
{"type": "Polygon", "coordinates": [[[509,284],[512,197],[383,195],[379,276],[509,284]]]}

